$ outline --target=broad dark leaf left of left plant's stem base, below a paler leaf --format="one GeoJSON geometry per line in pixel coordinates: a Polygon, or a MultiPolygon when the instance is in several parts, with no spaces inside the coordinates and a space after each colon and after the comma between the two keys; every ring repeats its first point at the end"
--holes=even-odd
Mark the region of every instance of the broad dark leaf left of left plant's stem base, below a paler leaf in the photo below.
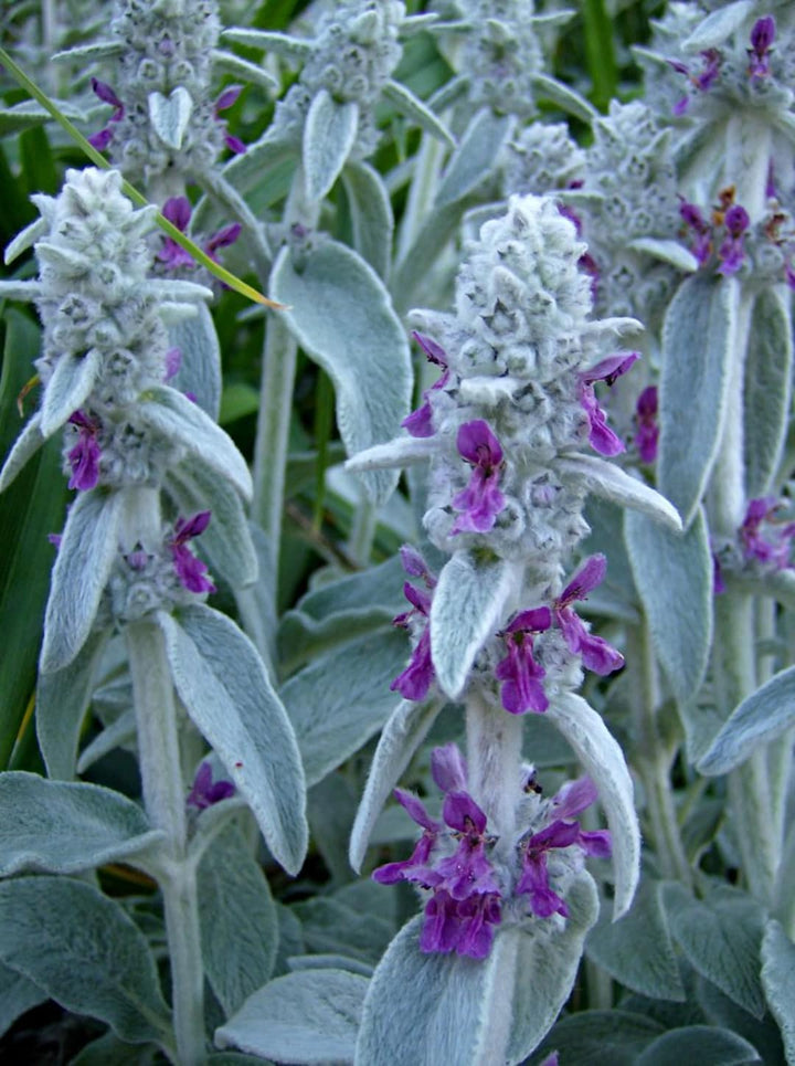
{"type": "Polygon", "coordinates": [[[0,884],[0,958],[123,1039],[169,1045],[169,1010],[146,939],[91,885],[46,876],[0,884]]]}

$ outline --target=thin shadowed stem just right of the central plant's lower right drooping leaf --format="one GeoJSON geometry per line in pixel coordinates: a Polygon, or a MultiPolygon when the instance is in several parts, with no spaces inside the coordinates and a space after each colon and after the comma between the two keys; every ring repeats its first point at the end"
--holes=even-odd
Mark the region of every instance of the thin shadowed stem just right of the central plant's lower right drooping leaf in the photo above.
{"type": "Polygon", "coordinates": [[[679,832],[674,793],[670,787],[671,756],[657,721],[660,703],[659,676],[648,623],[637,634],[630,632],[628,662],[637,676],[635,708],[635,763],[643,782],[655,854],[664,877],[690,886],[692,872],[679,832]]]}

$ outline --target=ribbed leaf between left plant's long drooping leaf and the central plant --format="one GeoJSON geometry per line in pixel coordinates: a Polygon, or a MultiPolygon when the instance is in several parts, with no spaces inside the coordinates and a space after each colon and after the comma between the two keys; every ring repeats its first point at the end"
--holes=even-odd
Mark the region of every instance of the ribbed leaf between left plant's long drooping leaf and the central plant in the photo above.
{"type": "Polygon", "coordinates": [[[406,640],[381,629],[316,658],[280,692],[296,731],[307,785],[326,777],[383,726],[400,701],[390,692],[406,640]]]}

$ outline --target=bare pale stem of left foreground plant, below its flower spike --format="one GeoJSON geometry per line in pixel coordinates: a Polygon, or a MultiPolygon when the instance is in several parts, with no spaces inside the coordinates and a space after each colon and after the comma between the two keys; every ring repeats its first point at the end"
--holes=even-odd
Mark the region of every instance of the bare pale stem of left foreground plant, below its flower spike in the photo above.
{"type": "Polygon", "coordinates": [[[195,868],[187,858],[186,796],[177,707],[163,635],[149,621],[127,627],[144,804],[162,830],[165,858],[157,869],[171,960],[174,1036],[182,1066],[205,1062],[204,968],[195,868]]]}

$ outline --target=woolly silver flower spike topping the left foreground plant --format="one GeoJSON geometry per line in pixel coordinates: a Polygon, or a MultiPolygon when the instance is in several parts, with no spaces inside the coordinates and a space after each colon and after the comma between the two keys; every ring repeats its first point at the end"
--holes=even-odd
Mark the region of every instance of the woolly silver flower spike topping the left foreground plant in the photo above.
{"type": "MultiPolygon", "coordinates": [[[[42,219],[31,233],[42,234],[34,245],[41,274],[26,284],[43,325],[36,361],[43,399],[0,477],[7,484],[44,439],[64,431],[70,488],[78,503],[96,500],[73,506],[66,529],[86,507],[106,510],[116,551],[104,555],[106,594],[97,610],[102,624],[124,624],[215,591],[189,547],[210,523],[210,510],[197,504],[208,494],[212,503],[218,479],[227,506],[230,476],[237,492],[248,492],[242,456],[192,399],[167,383],[183,356],[169,344],[168,324],[194,315],[195,302],[211,294],[148,276],[145,238],[155,212],[132,209],[117,171],[70,170],[60,197],[35,202],[42,219]],[[172,516],[166,523],[162,489],[172,516]]],[[[219,534],[212,536],[216,542],[219,534]]],[[[67,546],[80,550],[65,530],[60,557],[67,546]]]]}

